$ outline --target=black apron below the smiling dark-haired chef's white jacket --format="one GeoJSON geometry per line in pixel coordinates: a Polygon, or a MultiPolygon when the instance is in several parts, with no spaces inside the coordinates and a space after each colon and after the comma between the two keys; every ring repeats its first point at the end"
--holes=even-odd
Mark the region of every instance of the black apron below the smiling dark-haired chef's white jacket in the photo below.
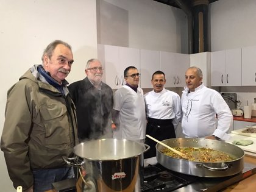
{"type": "MultiPolygon", "coordinates": [[[[146,134],[156,138],[158,141],[167,140],[169,138],[176,138],[172,119],[148,118],[146,134]]],[[[148,137],[145,138],[145,143],[150,146],[150,149],[144,153],[144,158],[155,157],[155,145],[157,143],[148,137]]]]}

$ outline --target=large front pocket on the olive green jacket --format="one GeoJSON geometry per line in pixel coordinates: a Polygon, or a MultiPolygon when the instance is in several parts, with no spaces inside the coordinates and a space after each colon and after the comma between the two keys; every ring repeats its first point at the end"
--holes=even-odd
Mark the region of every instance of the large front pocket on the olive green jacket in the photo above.
{"type": "Polygon", "coordinates": [[[69,119],[65,105],[60,103],[42,105],[40,115],[45,128],[45,144],[69,143],[69,119]]]}

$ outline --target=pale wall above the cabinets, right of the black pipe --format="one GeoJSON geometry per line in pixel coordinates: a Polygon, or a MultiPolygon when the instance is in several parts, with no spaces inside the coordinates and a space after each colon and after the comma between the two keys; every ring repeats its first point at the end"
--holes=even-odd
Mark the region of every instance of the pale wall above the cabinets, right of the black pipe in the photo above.
{"type": "Polygon", "coordinates": [[[209,8],[211,51],[256,45],[255,0],[219,0],[209,8]]]}

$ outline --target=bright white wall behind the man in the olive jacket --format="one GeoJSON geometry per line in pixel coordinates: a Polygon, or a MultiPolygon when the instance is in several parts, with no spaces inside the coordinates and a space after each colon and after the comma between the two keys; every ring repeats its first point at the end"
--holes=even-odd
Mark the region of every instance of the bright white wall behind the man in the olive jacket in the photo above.
{"type": "MultiPolygon", "coordinates": [[[[73,47],[69,83],[84,78],[85,62],[97,57],[96,0],[0,0],[0,133],[7,90],[60,39],[73,47]]],[[[16,191],[0,152],[0,191],[16,191]]]]}

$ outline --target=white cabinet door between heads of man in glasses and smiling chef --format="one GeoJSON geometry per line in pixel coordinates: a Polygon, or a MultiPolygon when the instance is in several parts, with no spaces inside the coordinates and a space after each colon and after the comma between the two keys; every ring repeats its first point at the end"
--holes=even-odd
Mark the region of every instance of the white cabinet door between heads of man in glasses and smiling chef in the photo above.
{"type": "Polygon", "coordinates": [[[152,74],[158,70],[160,70],[160,51],[140,49],[140,85],[142,88],[152,88],[152,74]]]}

